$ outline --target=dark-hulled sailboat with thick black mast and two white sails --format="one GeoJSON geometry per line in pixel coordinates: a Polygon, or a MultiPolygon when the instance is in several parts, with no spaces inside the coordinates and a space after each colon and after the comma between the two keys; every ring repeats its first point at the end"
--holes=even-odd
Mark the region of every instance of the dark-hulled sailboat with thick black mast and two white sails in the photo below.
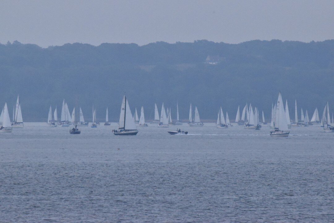
{"type": "Polygon", "coordinates": [[[138,133],[136,124],[132,118],[129,102],[125,95],[122,101],[120,122],[118,129],[119,130],[113,130],[113,133],[115,135],[137,135],[138,133]]]}

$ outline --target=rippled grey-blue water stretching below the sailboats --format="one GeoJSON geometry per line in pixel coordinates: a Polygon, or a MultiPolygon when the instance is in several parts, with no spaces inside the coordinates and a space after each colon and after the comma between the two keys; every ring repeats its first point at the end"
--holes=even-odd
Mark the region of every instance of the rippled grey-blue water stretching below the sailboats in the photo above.
{"type": "Polygon", "coordinates": [[[1,133],[0,222],[334,222],[334,133],[319,125],[112,125],[1,133]]]}

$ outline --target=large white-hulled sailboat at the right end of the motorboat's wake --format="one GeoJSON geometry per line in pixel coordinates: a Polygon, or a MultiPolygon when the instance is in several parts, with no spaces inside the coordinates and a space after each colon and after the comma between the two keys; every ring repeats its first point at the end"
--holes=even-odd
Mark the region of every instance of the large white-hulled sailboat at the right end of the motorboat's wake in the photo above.
{"type": "Polygon", "coordinates": [[[270,132],[271,136],[289,136],[288,123],[285,116],[284,105],[282,100],[281,92],[278,95],[277,103],[276,103],[276,114],[275,114],[275,122],[274,122],[274,131],[270,132]]]}

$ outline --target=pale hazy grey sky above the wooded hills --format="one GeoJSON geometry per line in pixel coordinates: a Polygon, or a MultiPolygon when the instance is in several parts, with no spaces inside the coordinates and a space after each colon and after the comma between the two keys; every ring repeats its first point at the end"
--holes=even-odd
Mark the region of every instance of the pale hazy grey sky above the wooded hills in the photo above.
{"type": "Polygon", "coordinates": [[[47,47],[68,42],[333,38],[334,0],[0,0],[0,43],[18,40],[47,47]]]}

